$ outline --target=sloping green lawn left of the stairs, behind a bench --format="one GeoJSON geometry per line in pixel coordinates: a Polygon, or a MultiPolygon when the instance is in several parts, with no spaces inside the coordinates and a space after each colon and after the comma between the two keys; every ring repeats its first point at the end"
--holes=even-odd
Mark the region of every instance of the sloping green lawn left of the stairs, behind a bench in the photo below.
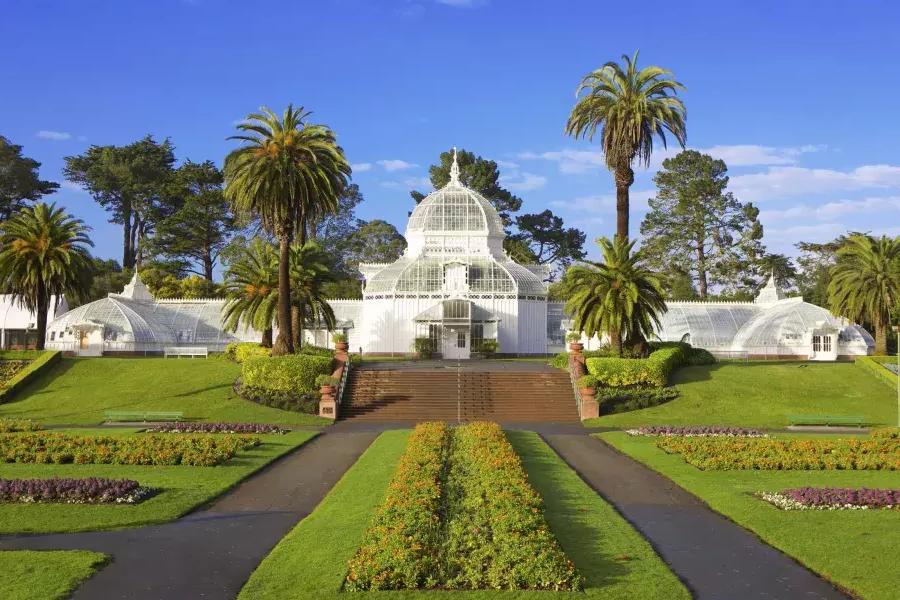
{"type": "Polygon", "coordinates": [[[186,419],[284,425],[330,423],[238,398],[238,364],[223,358],[64,358],[0,404],[0,417],[96,425],[106,410],[181,411],[186,419]]]}

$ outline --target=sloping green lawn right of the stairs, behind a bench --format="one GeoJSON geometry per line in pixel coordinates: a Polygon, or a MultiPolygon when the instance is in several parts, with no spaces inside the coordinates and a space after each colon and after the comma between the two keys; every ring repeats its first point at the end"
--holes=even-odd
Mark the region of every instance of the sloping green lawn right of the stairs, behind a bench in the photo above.
{"type": "MultiPolygon", "coordinates": [[[[671,402],[590,419],[591,427],[738,425],[784,428],[790,415],[861,415],[897,423],[896,391],[853,363],[723,362],[683,367],[671,402]]],[[[603,408],[601,407],[601,413],[603,408]]]]}

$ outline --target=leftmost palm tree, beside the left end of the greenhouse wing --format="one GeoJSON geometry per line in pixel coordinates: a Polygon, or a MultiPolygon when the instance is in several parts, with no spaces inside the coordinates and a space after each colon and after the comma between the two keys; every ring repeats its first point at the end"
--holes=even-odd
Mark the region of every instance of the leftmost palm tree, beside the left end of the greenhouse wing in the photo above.
{"type": "Polygon", "coordinates": [[[90,289],[93,246],[90,228],[56,204],[23,208],[2,225],[0,280],[22,306],[36,315],[37,347],[44,349],[47,311],[53,296],[74,299],[90,289]]]}

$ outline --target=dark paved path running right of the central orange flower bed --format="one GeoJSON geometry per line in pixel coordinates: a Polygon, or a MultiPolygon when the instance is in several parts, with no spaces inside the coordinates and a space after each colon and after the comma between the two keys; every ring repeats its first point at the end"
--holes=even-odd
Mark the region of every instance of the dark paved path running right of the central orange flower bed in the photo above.
{"type": "Polygon", "coordinates": [[[695,598],[848,597],[671,480],[600,440],[584,434],[542,435],[588,485],[650,541],[695,598]]]}

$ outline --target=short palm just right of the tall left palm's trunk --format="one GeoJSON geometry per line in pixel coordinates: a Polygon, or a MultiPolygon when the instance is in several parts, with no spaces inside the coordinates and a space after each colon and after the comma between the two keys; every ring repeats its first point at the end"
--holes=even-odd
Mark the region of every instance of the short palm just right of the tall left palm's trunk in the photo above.
{"type": "Polygon", "coordinates": [[[326,283],[337,281],[330,256],[315,242],[291,248],[291,331],[294,349],[299,351],[303,330],[308,324],[324,324],[334,329],[334,310],[324,296],[326,283]]]}

